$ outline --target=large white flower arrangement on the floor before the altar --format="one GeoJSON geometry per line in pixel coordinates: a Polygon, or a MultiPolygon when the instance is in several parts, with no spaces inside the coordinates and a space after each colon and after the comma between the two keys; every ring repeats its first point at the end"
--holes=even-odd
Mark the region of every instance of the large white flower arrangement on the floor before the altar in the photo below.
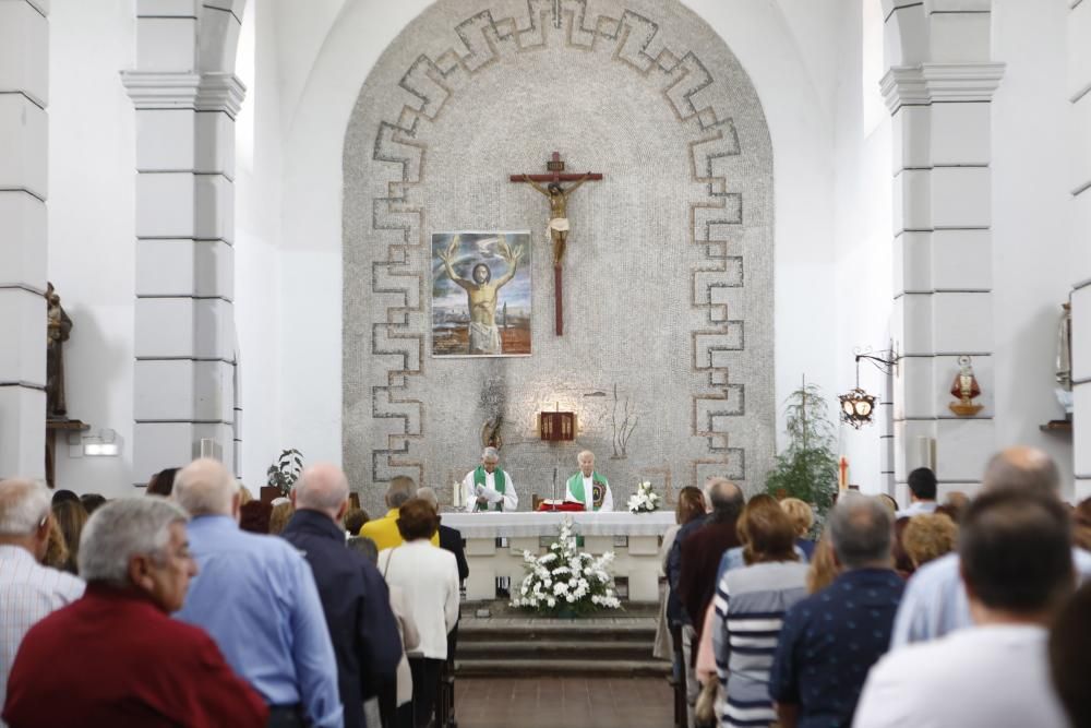
{"type": "Polygon", "coordinates": [[[596,559],[576,550],[572,520],[561,522],[561,532],[549,551],[540,557],[523,552],[527,575],[523,577],[513,607],[533,609],[543,614],[572,612],[586,614],[599,609],[620,609],[609,566],[610,551],[596,559]]]}

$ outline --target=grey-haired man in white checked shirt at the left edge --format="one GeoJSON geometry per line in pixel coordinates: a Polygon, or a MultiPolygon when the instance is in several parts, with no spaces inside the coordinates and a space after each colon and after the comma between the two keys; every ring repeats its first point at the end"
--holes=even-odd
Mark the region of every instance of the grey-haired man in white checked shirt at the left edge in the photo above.
{"type": "Polygon", "coordinates": [[[52,517],[45,486],[0,480],[0,705],[27,630],[83,596],[82,581],[40,564],[52,517]]]}

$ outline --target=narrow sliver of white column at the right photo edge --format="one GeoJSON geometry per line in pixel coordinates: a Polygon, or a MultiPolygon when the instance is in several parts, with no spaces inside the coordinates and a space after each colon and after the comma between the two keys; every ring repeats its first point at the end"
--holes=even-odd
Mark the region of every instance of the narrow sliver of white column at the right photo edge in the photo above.
{"type": "Polygon", "coordinates": [[[1091,2],[1069,0],[1068,93],[1072,140],[1072,391],[1076,499],[1091,497],[1091,2]]]}

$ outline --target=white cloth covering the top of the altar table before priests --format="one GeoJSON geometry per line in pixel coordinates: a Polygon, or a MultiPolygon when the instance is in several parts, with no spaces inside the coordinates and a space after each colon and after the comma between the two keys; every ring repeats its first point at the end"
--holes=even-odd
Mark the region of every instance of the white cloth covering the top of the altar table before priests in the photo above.
{"type": "Polygon", "coordinates": [[[652,513],[461,512],[444,513],[442,523],[460,530],[463,538],[523,538],[553,536],[565,517],[572,518],[579,536],[662,536],[674,525],[674,511],[666,510],[652,513]]]}

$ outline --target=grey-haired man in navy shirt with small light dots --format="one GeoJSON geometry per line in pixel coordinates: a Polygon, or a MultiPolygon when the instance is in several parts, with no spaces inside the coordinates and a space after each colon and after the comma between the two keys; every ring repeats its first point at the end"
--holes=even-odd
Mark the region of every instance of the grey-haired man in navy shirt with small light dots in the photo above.
{"type": "Polygon", "coordinates": [[[886,653],[904,582],[894,571],[894,518],[849,494],[827,526],[841,573],[784,614],[769,673],[782,726],[850,726],[867,671],[886,653]]]}

